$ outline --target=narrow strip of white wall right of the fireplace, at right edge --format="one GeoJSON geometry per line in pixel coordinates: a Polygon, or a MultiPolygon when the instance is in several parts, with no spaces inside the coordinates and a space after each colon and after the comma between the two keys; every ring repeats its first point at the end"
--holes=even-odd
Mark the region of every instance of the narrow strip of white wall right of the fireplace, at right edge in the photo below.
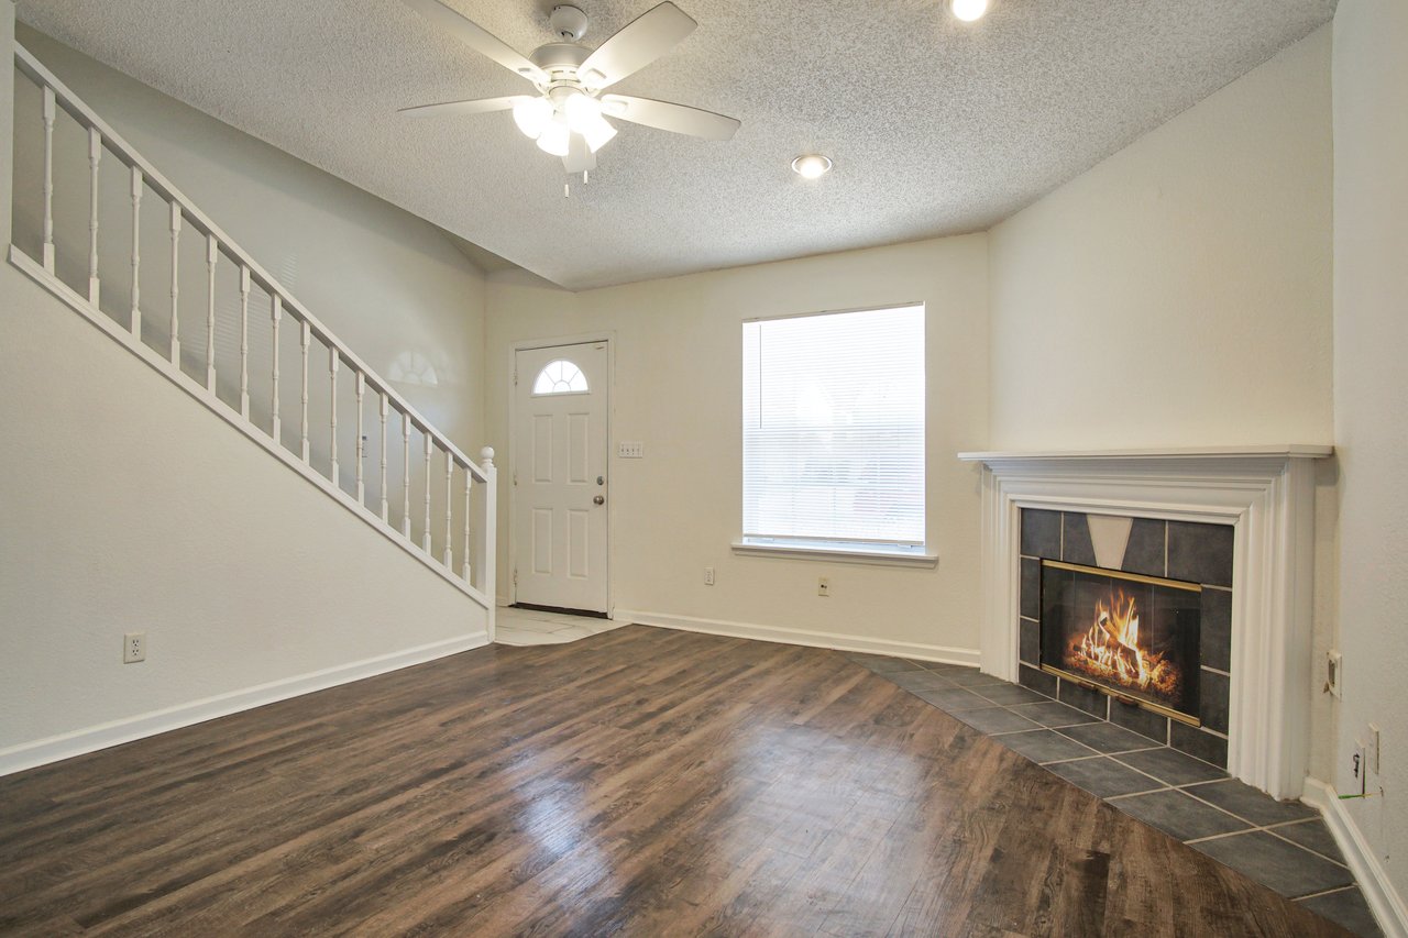
{"type": "Polygon", "coordinates": [[[1340,793],[1367,724],[1383,731],[1384,797],[1345,801],[1408,896],[1408,6],[1356,0],[1335,14],[1335,446],[1340,465],[1336,713],[1340,793]]]}

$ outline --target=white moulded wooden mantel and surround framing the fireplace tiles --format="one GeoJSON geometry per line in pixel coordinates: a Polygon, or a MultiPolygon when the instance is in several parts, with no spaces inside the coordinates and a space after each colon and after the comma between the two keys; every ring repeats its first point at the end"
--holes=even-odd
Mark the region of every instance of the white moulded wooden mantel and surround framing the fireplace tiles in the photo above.
{"type": "Polygon", "coordinates": [[[1331,446],[962,452],[983,465],[983,670],[1018,676],[1019,510],[1233,527],[1228,772],[1300,797],[1309,751],[1314,461],[1331,446]]]}

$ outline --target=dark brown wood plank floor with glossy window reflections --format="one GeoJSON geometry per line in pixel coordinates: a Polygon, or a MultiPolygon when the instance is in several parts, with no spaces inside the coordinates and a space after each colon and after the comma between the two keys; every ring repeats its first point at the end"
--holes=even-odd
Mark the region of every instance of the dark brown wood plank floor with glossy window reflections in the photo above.
{"type": "Polygon", "coordinates": [[[1347,934],[845,656],[627,627],[0,779],[6,934],[1347,934]]]}

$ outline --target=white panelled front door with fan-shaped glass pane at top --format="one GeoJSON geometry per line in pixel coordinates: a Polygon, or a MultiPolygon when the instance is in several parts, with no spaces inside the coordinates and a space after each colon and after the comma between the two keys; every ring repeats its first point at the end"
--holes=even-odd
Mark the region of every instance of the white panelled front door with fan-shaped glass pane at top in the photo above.
{"type": "Polygon", "coordinates": [[[607,344],[514,359],[515,601],[607,610],[607,344]]]}

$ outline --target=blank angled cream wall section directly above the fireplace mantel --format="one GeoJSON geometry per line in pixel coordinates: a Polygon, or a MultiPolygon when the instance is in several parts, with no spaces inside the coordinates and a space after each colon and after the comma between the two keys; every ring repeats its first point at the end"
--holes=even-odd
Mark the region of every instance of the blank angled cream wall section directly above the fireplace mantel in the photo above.
{"type": "Polygon", "coordinates": [[[994,449],[1331,438],[1324,27],[991,232],[994,449]]]}

